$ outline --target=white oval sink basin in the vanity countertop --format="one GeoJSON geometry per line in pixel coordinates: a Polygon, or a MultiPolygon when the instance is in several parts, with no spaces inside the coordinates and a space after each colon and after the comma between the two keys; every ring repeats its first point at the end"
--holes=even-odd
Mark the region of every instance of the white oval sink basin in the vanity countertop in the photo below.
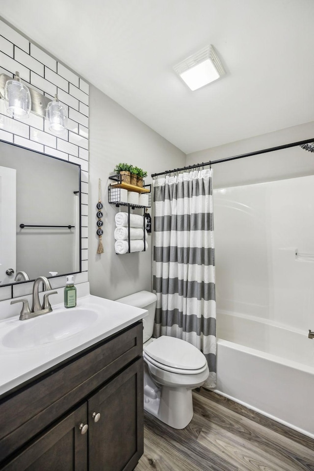
{"type": "Polygon", "coordinates": [[[20,321],[19,325],[2,337],[2,345],[9,348],[38,347],[63,340],[89,327],[98,318],[92,309],[70,308],[20,321]]]}

